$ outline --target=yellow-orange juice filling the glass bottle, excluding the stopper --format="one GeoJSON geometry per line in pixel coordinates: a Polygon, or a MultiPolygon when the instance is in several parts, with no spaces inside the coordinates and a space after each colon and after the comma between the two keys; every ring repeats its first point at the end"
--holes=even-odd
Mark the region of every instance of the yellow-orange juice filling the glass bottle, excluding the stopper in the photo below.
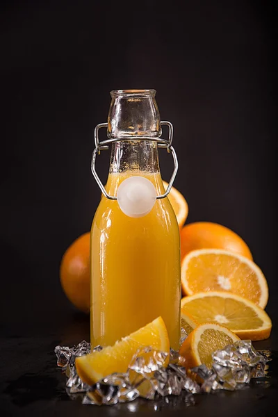
{"type": "MultiPolygon", "coordinates": [[[[146,177],[165,192],[160,172],[111,172],[106,191],[131,175],[146,177]]],[[[91,229],[91,343],[113,345],[162,316],[170,346],[179,347],[179,227],[169,200],[156,199],[142,218],[125,215],[117,201],[102,196],[91,229]]]]}

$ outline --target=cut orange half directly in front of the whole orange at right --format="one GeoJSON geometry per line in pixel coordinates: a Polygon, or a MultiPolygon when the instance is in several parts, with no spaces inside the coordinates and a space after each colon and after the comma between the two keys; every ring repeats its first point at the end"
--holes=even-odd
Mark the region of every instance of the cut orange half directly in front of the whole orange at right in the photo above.
{"type": "Polygon", "coordinates": [[[183,293],[229,291],[258,304],[268,302],[268,284],[259,266],[226,250],[202,249],[186,255],[181,263],[183,293]]]}

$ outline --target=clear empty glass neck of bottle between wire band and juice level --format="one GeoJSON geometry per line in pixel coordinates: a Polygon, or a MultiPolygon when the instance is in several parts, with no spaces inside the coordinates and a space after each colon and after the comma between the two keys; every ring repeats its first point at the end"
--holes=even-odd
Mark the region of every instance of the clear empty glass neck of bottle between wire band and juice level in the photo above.
{"type": "Polygon", "coordinates": [[[109,172],[160,172],[157,144],[153,140],[113,142],[109,172]]]}

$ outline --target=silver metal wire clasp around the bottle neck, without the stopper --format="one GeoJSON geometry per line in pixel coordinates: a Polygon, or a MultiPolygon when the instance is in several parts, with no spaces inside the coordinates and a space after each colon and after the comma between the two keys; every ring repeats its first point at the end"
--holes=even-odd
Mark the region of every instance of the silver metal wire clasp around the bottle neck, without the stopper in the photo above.
{"type": "MultiPolygon", "coordinates": [[[[172,154],[173,160],[174,160],[174,170],[172,173],[172,177],[168,183],[167,186],[167,190],[165,191],[164,194],[161,195],[157,195],[156,199],[162,199],[167,197],[167,195],[170,193],[170,190],[172,188],[174,179],[177,175],[177,170],[179,167],[179,163],[178,163],[178,158],[177,158],[177,154],[174,150],[174,147],[172,147],[172,140],[173,140],[173,125],[170,122],[164,121],[161,122],[161,126],[168,126],[169,128],[169,136],[168,139],[163,139],[163,138],[152,138],[150,136],[140,136],[140,140],[154,140],[155,142],[157,142],[158,148],[164,148],[167,149],[168,153],[172,154]]],[[[102,142],[99,142],[99,129],[101,129],[101,127],[108,127],[108,123],[99,123],[97,124],[97,126],[95,127],[95,149],[92,151],[92,161],[91,161],[91,170],[92,170],[92,174],[95,177],[95,180],[97,181],[97,184],[99,186],[99,188],[101,189],[101,193],[103,193],[105,195],[106,198],[111,199],[111,200],[116,200],[117,197],[113,196],[113,195],[109,195],[106,192],[106,189],[104,188],[104,184],[101,182],[101,179],[99,178],[99,176],[97,175],[97,171],[95,169],[95,163],[96,163],[96,158],[97,158],[97,154],[100,154],[101,151],[107,150],[109,149],[108,145],[110,145],[113,142],[119,142],[120,140],[131,140],[131,138],[113,138],[113,139],[106,139],[103,140],[102,142]]],[[[135,139],[135,138],[132,138],[135,139]]]]}

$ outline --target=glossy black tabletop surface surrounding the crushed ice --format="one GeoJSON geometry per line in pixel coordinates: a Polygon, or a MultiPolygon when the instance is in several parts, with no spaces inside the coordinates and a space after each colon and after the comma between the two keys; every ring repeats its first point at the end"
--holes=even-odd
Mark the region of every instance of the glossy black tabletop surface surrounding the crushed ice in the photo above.
{"type": "MultiPolygon", "coordinates": [[[[186,413],[187,416],[276,416],[278,388],[278,352],[274,334],[267,341],[254,343],[256,349],[272,350],[268,375],[254,379],[242,391],[218,391],[194,395],[195,405],[187,407],[181,398],[170,397],[170,404],[161,401],[135,400],[115,406],[86,406],[79,400],[70,400],[65,392],[65,375],[56,368],[54,347],[72,345],[89,337],[89,320],[68,311],[67,324],[42,327],[35,335],[10,335],[1,338],[0,365],[2,416],[122,416],[162,415],[186,413]]],[[[26,328],[26,327],[24,327],[26,328]]]]}

